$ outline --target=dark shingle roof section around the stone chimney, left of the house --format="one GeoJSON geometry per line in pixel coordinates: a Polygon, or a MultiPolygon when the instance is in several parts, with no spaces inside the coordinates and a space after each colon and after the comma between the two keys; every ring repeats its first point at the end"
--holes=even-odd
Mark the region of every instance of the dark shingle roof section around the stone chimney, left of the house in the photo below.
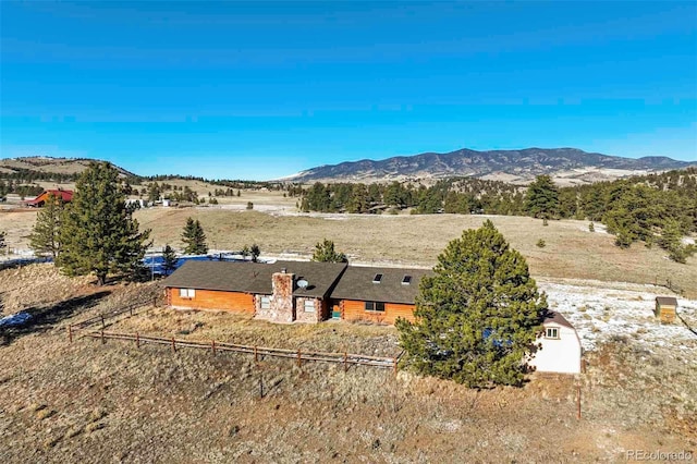
{"type": "Polygon", "coordinates": [[[186,261],[164,280],[170,288],[198,290],[221,290],[256,294],[271,294],[271,274],[285,268],[295,274],[295,282],[305,279],[307,289],[296,288],[295,296],[325,297],[332,290],[345,264],[276,261],[225,262],[225,261],[186,261]]]}

